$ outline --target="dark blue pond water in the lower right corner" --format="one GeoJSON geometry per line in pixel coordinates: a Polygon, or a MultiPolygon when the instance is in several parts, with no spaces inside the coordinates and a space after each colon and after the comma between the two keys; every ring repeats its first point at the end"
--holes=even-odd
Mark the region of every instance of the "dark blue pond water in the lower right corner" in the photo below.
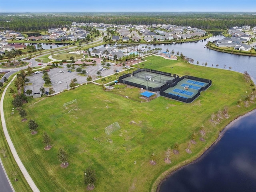
{"type": "Polygon", "coordinates": [[[174,172],[160,192],[256,192],[256,111],[234,122],[197,162],[174,172]]]}

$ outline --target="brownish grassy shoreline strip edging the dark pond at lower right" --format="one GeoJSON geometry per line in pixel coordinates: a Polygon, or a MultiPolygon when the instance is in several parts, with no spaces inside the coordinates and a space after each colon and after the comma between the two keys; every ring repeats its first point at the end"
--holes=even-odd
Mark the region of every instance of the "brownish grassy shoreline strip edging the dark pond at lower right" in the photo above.
{"type": "MultiPolygon", "coordinates": [[[[163,184],[163,182],[165,182],[170,176],[172,176],[172,174],[174,174],[175,172],[179,171],[180,169],[190,165],[190,164],[194,164],[196,162],[198,162],[199,160],[201,160],[202,158],[204,158],[205,155],[208,154],[208,152],[210,152],[212,150],[212,147],[215,146],[219,141],[220,139],[224,136],[225,132],[227,130],[229,130],[236,122],[238,122],[239,120],[241,120],[242,118],[245,118],[253,113],[256,113],[256,108],[254,108],[253,110],[247,112],[246,114],[243,114],[243,115],[240,115],[236,118],[234,118],[234,120],[232,120],[229,124],[227,124],[218,134],[218,137],[216,138],[216,140],[209,146],[209,148],[207,148],[198,158],[196,158],[195,160],[192,160],[192,162],[189,162],[188,164],[185,164],[185,165],[177,165],[178,168],[176,168],[175,170],[171,171],[170,173],[168,173],[167,176],[165,176],[160,182],[158,182],[157,184],[157,188],[156,188],[156,192],[160,192],[160,186],[163,184]]],[[[189,161],[189,160],[188,160],[189,161]]],[[[186,163],[186,160],[185,160],[185,163],[186,163]]],[[[182,163],[181,163],[182,164],[182,163]]],[[[164,172],[162,173],[164,174],[164,172]]],[[[159,178],[159,177],[158,177],[159,178]]],[[[158,180],[158,178],[156,180],[158,180]]],[[[156,181],[155,180],[155,181],[156,181]]],[[[153,184],[154,185],[154,184],[153,184]]],[[[153,188],[152,188],[153,190],[153,188]]],[[[151,190],[151,191],[152,191],[151,190]]]]}

